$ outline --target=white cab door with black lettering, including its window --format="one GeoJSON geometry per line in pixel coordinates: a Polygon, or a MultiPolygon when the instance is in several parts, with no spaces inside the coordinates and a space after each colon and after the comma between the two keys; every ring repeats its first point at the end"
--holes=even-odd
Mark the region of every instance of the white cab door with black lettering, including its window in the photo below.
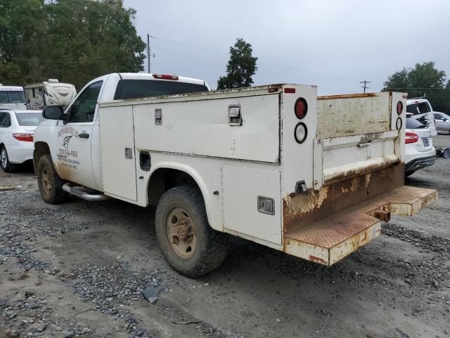
{"type": "Polygon", "coordinates": [[[100,189],[92,173],[91,140],[102,84],[103,81],[90,84],[68,108],[65,123],[58,124],[58,142],[53,153],[57,156],[56,170],[60,177],[92,189],[100,189]]]}

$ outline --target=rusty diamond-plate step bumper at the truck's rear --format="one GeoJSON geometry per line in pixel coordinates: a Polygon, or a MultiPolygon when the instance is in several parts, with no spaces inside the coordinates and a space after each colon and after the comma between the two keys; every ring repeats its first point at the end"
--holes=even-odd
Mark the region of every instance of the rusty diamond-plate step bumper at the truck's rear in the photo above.
{"type": "Polygon", "coordinates": [[[381,222],[389,221],[391,213],[414,215],[435,201],[437,190],[399,187],[307,226],[294,226],[284,236],[283,251],[330,266],[380,236],[381,222]]]}

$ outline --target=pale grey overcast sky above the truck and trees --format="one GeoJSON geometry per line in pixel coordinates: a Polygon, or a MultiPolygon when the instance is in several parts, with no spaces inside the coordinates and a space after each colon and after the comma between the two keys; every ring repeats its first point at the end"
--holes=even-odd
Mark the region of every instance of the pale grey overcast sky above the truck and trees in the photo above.
{"type": "Polygon", "coordinates": [[[388,75],[425,61],[450,76],[449,0],[124,0],[124,6],[136,9],[142,39],[155,37],[152,73],[197,77],[212,89],[238,37],[258,57],[255,84],[316,84],[320,94],[339,94],[361,92],[359,82],[368,80],[368,91],[378,92],[388,75]]]}

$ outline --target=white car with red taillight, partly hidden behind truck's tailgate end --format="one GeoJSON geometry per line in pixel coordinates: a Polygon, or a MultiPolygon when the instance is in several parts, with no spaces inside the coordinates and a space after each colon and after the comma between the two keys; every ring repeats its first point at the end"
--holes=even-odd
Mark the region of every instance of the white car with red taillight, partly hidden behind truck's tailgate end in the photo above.
{"type": "Polygon", "coordinates": [[[436,150],[430,130],[415,118],[406,118],[405,175],[435,164],[436,150]]]}

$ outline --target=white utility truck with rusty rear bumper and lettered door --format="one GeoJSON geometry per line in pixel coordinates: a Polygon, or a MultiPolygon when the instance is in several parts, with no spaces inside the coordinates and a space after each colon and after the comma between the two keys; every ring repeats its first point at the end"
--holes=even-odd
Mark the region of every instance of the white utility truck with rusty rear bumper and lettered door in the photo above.
{"type": "Polygon", "coordinates": [[[184,77],[111,74],[64,113],[46,108],[53,120],[34,132],[44,201],[157,206],[162,253],[197,277],[224,260],[224,233],[332,265],[379,236],[391,214],[437,200],[404,186],[404,94],[207,90],[184,77]]]}

